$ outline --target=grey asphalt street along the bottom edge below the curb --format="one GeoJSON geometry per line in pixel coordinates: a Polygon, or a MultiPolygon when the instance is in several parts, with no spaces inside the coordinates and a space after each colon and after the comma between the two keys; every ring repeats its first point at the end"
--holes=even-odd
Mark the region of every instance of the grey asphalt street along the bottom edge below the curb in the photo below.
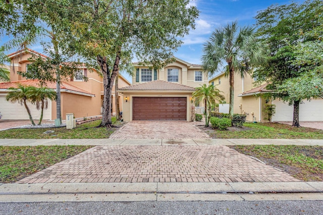
{"type": "Polygon", "coordinates": [[[0,203],[0,214],[323,214],[323,201],[0,203]]]}

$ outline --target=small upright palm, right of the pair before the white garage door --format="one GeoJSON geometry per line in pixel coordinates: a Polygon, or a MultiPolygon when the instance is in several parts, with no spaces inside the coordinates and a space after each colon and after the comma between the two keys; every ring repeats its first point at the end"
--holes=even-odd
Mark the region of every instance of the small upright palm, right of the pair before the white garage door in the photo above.
{"type": "Polygon", "coordinates": [[[36,104],[37,110],[41,109],[38,125],[41,124],[44,109],[48,108],[48,100],[56,100],[56,92],[46,87],[31,87],[28,91],[31,103],[36,104]]]}

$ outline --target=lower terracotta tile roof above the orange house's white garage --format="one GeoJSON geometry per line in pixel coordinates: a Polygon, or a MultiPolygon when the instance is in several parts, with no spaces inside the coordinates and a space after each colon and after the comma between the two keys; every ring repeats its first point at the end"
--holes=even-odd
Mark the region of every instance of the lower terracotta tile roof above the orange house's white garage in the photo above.
{"type": "MultiPolygon", "coordinates": [[[[24,81],[15,81],[15,82],[5,82],[5,83],[0,83],[0,92],[7,92],[7,89],[10,87],[13,88],[18,88],[18,85],[23,85],[23,86],[32,86],[32,87],[40,87],[40,82],[35,79],[35,80],[24,80],[24,81]]],[[[46,82],[45,87],[49,89],[56,89],[56,83],[54,82],[46,82]]],[[[61,84],[61,92],[66,92],[66,93],[73,93],[73,94],[78,94],[78,95],[83,95],[83,96],[90,96],[94,97],[95,95],[87,92],[85,90],[82,90],[78,87],[75,87],[73,85],[70,85],[66,82],[62,82],[61,84]]]]}

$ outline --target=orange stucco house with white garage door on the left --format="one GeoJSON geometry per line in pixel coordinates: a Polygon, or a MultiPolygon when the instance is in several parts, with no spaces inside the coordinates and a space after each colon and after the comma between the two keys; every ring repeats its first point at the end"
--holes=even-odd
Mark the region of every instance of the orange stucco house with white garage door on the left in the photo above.
{"type": "MultiPolygon", "coordinates": [[[[28,58],[33,54],[46,58],[47,56],[35,52],[31,49],[17,51],[9,54],[11,59],[10,80],[8,83],[0,83],[0,112],[3,119],[29,119],[25,108],[18,103],[12,104],[6,101],[7,89],[16,87],[18,84],[24,86],[39,86],[38,80],[26,80],[17,74],[17,71],[28,71],[28,58]]],[[[119,86],[126,87],[130,83],[121,75],[119,75],[119,86]]],[[[48,88],[56,90],[56,83],[47,83],[48,88]]],[[[123,96],[118,95],[120,104],[122,104],[123,96]]],[[[112,100],[115,98],[115,90],[113,88],[112,100]]],[[[80,67],[74,78],[63,79],[61,85],[61,109],[62,118],[66,118],[67,113],[74,113],[75,118],[97,116],[101,114],[101,106],[103,103],[103,81],[94,69],[80,67]],[[88,78],[84,82],[82,75],[88,78]]],[[[33,118],[39,118],[40,111],[37,111],[35,105],[29,105],[33,118]]],[[[122,105],[120,110],[122,111],[122,105]]],[[[112,106],[112,112],[115,114],[115,105],[112,106]]],[[[56,119],[56,102],[52,101],[48,104],[48,109],[44,110],[43,119],[56,119]]]]}

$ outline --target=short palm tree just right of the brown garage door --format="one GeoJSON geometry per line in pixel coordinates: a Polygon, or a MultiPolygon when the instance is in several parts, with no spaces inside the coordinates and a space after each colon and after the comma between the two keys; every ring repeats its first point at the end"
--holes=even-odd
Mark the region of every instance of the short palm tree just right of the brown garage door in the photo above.
{"type": "Polygon", "coordinates": [[[204,102],[204,114],[205,114],[205,127],[208,127],[209,117],[208,114],[211,110],[211,107],[216,104],[216,100],[223,100],[224,96],[220,94],[221,91],[214,87],[213,85],[203,84],[201,87],[197,87],[193,93],[193,99],[196,101],[204,102]]]}

